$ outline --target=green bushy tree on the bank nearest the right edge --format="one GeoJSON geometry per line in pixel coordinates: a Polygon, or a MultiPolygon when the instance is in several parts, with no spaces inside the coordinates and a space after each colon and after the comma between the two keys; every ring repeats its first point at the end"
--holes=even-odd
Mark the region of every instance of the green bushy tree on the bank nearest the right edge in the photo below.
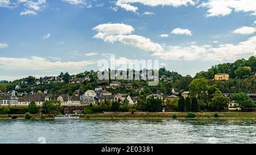
{"type": "Polygon", "coordinates": [[[238,107],[240,107],[242,110],[255,107],[253,100],[245,93],[233,94],[233,100],[238,103],[238,107]]]}

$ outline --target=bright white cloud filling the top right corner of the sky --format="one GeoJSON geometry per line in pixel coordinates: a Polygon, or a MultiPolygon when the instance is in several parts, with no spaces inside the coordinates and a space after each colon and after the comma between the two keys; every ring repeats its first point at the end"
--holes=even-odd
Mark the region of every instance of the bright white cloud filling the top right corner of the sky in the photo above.
{"type": "Polygon", "coordinates": [[[226,16],[235,12],[250,12],[250,15],[256,15],[255,0],[208,0],[197,7],[207,7],[206,17],[226,16]]]}

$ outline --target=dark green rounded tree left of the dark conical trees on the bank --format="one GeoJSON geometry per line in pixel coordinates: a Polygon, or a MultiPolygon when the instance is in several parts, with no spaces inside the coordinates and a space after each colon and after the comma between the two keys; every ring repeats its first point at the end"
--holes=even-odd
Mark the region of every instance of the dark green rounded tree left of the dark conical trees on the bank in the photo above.
{"type": "Polygon", "coordinates": [[[162,110],[162,100],[159,98],[150,97],[146,100],[145,110],[157,112],[162,110]]]}

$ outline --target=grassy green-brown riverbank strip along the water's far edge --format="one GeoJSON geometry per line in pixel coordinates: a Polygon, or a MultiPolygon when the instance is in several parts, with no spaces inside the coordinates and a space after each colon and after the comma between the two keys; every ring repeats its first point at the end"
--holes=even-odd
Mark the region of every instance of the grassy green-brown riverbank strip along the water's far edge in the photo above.
{"type": "MultiPolygon", "coordinates": [[[[187,112],[140,112],[131,114],[129,112],[108,112],[101,114],[80,115],[80,119],[167,119],[176,114],[177,119],[187,118],[187,112]]],[[[196,118],[215,118],[215,112],[196,112],[196,118]]],[[[0,115],[0,120],[24,119],[24,115],[0,115]]],[[[256,118],[256,112],[218,112],[218,118],[256,118]]],[[[54,120],[53,115],[33,115],[35,120],[54,120]]]]}

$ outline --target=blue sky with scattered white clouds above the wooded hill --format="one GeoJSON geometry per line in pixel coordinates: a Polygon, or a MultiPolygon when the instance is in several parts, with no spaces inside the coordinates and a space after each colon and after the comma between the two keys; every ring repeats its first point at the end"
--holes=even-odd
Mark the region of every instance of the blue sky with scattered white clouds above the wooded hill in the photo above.
{"type": "Polygon", "coordinates": [[[186,76],[256,55],[255,0],[0,0],[0,80],[98,70],[115,55],[186,76]]]}

